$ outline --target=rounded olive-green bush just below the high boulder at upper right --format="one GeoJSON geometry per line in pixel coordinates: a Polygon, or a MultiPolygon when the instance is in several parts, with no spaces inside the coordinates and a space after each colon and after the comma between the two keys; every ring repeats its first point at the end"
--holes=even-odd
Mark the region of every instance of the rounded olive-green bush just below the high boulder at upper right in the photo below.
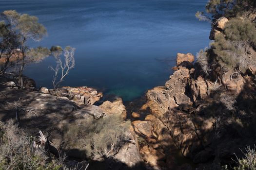
{"type": "Polygon", "coordinates": [[[224,33],[215,36],[215,42],[211,45],[221,66],[244,72],[250,63],[249,48],[255,44],[255,24],[233,18],[226,24],[224,33]]]}

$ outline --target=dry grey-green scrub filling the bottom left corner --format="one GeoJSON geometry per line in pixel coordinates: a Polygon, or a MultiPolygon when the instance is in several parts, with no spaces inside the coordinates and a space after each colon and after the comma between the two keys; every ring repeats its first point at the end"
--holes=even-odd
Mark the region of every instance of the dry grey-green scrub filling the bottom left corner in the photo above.
{"type": "Polygon", "coordinates": [[[13,121],[0,121],[0,170],[68,170],[63,158],[50,158],[33,140],[13,121]]]}

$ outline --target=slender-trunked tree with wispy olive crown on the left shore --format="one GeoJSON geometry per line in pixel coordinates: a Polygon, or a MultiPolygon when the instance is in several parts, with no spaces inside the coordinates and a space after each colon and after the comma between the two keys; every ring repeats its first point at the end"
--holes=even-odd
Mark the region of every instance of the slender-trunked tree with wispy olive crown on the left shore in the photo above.
{"type": "Polygon", "coordinates": [[[11,34],[16,36],[18,48],[12,57],[15,57],[16,66],[19,72],[20,87],[23,88],[23,71],[24,68],[35,62],[40,62],[42,59],[50,55],[47,48],[36,47],[30,48],[28,41],[40,41],[47,34],[46,29],[40,23],[38,18],[28,14],[19,14],[15,10],[4,11],[1,14],[2,24],[8,28],[11,34]]]}

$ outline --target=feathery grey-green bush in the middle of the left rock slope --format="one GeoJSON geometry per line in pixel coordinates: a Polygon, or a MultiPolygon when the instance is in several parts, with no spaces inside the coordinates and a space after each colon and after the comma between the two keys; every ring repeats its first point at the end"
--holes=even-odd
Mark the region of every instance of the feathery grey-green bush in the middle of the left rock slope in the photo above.
{"type": "Polygon", "coordinates": [[[111,157],[125,142],[129,126],[118,115],[87,119],[70,125],[64,138],[67,146],[85,151],[88,157],[111,157]]]}

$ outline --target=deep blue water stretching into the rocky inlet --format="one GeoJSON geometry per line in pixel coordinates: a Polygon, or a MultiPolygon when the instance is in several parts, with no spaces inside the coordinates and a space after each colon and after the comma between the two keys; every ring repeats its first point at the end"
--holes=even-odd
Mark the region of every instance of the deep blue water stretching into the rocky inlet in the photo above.
{"type": "MultiPolygon", "coordinates": [[[[129,101],[164,85],[177,52],[209,44],[210,25],[195,18],[208,0],[0,0],[0,11],[35,15],[48,32],[31,46],[76,48],[76,68],[62,85],[93,86],[129,101]]],[[[49,57],[25,75],[51,86],[49,57]]]]}

